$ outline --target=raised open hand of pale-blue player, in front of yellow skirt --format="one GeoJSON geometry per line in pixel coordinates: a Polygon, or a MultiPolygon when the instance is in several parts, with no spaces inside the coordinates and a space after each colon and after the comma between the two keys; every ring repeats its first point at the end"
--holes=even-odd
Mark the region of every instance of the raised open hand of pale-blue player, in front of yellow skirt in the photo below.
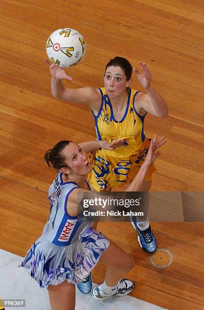
{"type": "Polygon", "coordinates": [[[156,150],[167,142],[164,139],[165,139],[165,136],[162,136],[162,138],[158,140],[157,134],[155,135],[155,138],[151,140],[144,164],[147,164],[148,166],[151,166],[152,164],[154,164],[158,156],[161,154],[160,151],[156,152],[156,150]]]}

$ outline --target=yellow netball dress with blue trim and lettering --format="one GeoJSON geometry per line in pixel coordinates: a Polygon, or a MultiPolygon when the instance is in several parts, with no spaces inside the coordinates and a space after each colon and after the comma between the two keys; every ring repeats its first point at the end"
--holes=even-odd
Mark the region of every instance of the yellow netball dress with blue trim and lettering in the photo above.
{"type": "MultiPolygon", "coordinates": [[[[118,122],[114,118],[113,108],[105,88],[99,88],[102,96],[100,110],[94,115],[97,140],[115,142],[126,139],[125,145],[114,150],[98,149],[90,154],[92,170],[88,175],[90,185],[97,191],[111,190],[129,184],[145,160],[150,139],[144,133],[145,115],[136,111],[137,93],[129,89],[127,107],[123,118],[118,122]]],[[[150,180],[156,170],[151,166],[145,180],[150,180]]]]}

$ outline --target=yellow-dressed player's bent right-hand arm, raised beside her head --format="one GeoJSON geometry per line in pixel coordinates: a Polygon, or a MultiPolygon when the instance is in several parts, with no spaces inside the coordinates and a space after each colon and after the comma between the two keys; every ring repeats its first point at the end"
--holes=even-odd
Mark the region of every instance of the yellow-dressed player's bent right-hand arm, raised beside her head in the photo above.
{"type": "Polygon", "coordinates": [[[148,112],[159,118],[166,118],[169,114],[169,109],[164,98],[151,86],[151,72],[146,67],[145,63],[139,63],[142,73],[136,68],[133,68],[139,83],[143,86],[146,93],[141,93],[137,99],[136,109],[141,114],[148,112]]]}

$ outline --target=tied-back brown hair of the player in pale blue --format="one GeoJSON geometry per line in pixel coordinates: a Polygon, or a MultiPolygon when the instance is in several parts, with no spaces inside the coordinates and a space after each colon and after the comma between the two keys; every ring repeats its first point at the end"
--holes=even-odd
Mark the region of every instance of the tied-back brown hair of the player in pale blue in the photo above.
{"type": "Polygon", "coordinates": [[[70,142],[71,141],[68,140],[60,141],[53,148],[50,148],[46,151],[46,153],[44,154],[44,160],[48,166],[53,167],[55,169],[68,167],[65,156],[63,154],[63,149],[70,142]]]}

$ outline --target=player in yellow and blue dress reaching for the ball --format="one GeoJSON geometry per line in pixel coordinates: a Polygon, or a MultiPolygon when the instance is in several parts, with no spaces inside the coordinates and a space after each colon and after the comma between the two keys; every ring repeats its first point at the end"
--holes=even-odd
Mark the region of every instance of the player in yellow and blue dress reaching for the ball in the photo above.
{"type": "MultiPolygon", "coordinates": [[[[159,118],[168,116],[168,106],[164,98],[151,86],[151,72],[145,63],[140,62],[140,73],[136,67],[134,73],[144,92],[130,88],[132,66],[122,57],[111,59],[105,69],[104,88],[83,87],[67,88],[62,80],[72,80],[63,68],[46,61],[49,65],[52,94],[60,100],[72,103],[85,103],[92,109],[97,139],[114,142],[126,139],[124,145],[109,152],[98,150],[92,153],[90,161],[92,171],[89,182],[97,191],[111,190],[112,187],[129,183],[137,174],[150,144],[144,132],[144,118],[150,113],[159,118]]],[[[150,167],[142,191],[148,191],[154,166],[150,167]]],[[[146,209],[148,209],[148,203],[146,209]]],[[[157,249],[157,242],[151,231],[148,218],[132,218],[137,230],[138,242],[147,252],[157,249]]]]}

